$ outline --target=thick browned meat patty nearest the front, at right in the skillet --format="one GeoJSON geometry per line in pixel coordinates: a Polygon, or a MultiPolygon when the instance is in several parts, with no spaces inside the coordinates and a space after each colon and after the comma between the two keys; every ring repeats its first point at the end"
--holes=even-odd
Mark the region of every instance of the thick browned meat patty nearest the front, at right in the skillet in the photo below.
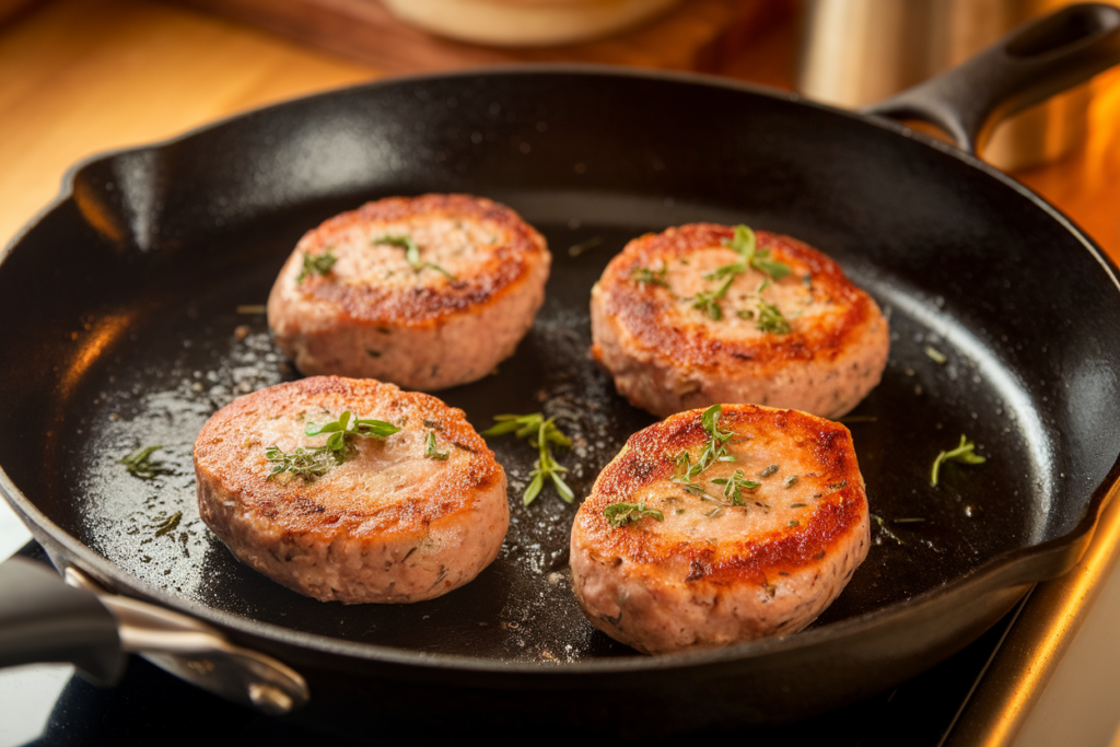
{"type": "Polygon", "coordinates": [[[629,438],[599,474],[571,533],[571,570],[588,619],[645,653],[710,648],[795,633],[867,557],[869,514],[851,435],[795,410],[724,405],[734,461],[684,487],[711,437],[702,410],[629,438]],[[741,471],[738,499],[724,480],[741,471]],[[608,507],[660,512],[616,526],[608,507]],[[728,505],[738,503],[741,505],[728,505]]]}

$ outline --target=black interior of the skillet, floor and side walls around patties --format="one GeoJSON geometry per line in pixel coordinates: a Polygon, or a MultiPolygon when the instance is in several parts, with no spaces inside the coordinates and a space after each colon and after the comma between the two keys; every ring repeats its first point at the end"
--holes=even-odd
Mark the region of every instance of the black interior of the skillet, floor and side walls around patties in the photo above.
{"type": "Polygon", "coordinates": [[[488,439],[510,476],[497,561],[404,606],[321,604],[237,562],[198,517],[190,447],[233,396],[298,375],[264,315],[237,307],[264,304],[305,231],[367,199],[469,192],[536,226],[553,271],[515,356],[439,396],[479,430],[557,415],[581,498],[653,422],[589,358],[591,284],[643,232],[741,222],[831,254],[890,319],[884,381],[849,415],[889,531],[872,527],[814,627],[883,610],[1083,527],[1116,461],[1120,360],[1094,334],[1120,328],[1111,270],[993,174],[855,116],[688,80],[452,76],[253,113],[85,165],[0,265],[0,464],[63,530],[188,606],[426,654],[629,656],[571,592],[576,506],[551,488],[521,505],[534,454],[512,437],[488,439]],[[962,433],[988,463],[931,487],[962,433]],[[174,475],[118,463],[152,445],[174,475]]]}

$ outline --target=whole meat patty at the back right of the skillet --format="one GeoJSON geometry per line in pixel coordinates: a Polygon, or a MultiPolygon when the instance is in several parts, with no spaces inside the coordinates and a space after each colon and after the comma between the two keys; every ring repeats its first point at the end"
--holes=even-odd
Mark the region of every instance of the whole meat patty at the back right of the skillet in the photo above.
{"type": "Polygon", "coordinates": [[[701,293],[726,282],[712,273],[740,260],[732,235],[699,223],[629,242],[591,291],[592,354],[620,394],[659,417],[749,402],[839,418],[879,383],[887,320],[836,262],[765,231],[758,250],[792,272],[774,280],[747,268],[713,299],[718,311],[704,307],[701,293]],[[764,304],[788,332],[759,328],[764,304]]]}

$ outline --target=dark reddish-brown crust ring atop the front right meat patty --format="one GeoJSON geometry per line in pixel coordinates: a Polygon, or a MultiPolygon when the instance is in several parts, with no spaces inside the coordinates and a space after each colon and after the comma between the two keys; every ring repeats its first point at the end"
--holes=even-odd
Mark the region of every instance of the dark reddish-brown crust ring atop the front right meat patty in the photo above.
{"type": "Polygon", "coordinates": [[[624,558],[678,580],[763,585],[814,566],[866,522],[867,495],[847,428],[795,410],[737,404],[722,407],[724,430],[758,442],[784,439],[811,463],[799,484],[804,489],[812,483],[819,493],[809,515],[795,526],[716,544],[661,536],[653,519],[612,526],[604,514],[608,505],[628,503],[644,486],[671,478],[675,455],[682,449],[696,454],[708,441],[700,417],[700,410],[682,412],[629,438],[579,508],[576,523],[584,544],[600,557],[624,558]]]}

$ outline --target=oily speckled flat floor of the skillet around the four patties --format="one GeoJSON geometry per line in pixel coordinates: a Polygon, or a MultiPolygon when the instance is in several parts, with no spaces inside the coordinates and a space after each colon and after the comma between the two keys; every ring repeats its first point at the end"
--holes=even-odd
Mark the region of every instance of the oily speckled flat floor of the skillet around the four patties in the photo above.
{"type": "MultiPolygon", "coordinates": [[[[628,216],[614,224],[557,221],[554,213],[536,215],[533,205],[510,202],[542,230],[553,251],[545,305],[495,375],[441,396],[463,408],[479,430],[503,412],[556,415],[575,442],[558,458],[571,470],[567,477],[577,504],[563,504],[545,488],[535,503],[522,506],[535,454],[510,437],[491,439],[510,477],[512,520],[498,559],[475,581],[416,605],[324,605],[237,562],[198,517],[190,447],[202,424],[234,396],[296,376],[272,346],[263,314],[237,307],[263,304],[291,236],[307,224],[304,215],[272,218],[231,239],[256,242],[258,249],[212,277],[204,293],[196,283],[190,297],[137,301],[137,308],[151,310],[134,315],[128,336],[92,360],[72,390],[69,427],[52,442],[48,468],[56,470],[53,483],[62,493],[55,505],[76,510],[53,517],[156,587],[288,628],[503,661],[631,655],[584,619],[570,589],[567,548],[579,498],[626,437],[653,422],[615,394],[609,376],[589,357],[588,293],[628,239],[664,226],[628,216]],[[138,447],[155,445],[162,448],[153,458],[172,474],[140,479],[119,464],[138,447]]],[[[709,217],[679,212],[673,216],[679,222],[709,217]]],[[[986,355],[940,299],[902,288],[858,260],[839,259],[892,324],[883,383],[846,419],[871,513],[883,524],[872,526],[867,561],[818,626],[959,578],[1020,547],[1044,521],[1032,498],[1045,488],[1038,466],[1045,455],[1030,446],[1043,441],[1033,436],[1042,427],[1029,422],[1034,415],[1014,374],[986,355]],[[934,457],[962,433],[989,461],[951,465],[942,470],[941,485],[931,487],[934,457]]]]}

